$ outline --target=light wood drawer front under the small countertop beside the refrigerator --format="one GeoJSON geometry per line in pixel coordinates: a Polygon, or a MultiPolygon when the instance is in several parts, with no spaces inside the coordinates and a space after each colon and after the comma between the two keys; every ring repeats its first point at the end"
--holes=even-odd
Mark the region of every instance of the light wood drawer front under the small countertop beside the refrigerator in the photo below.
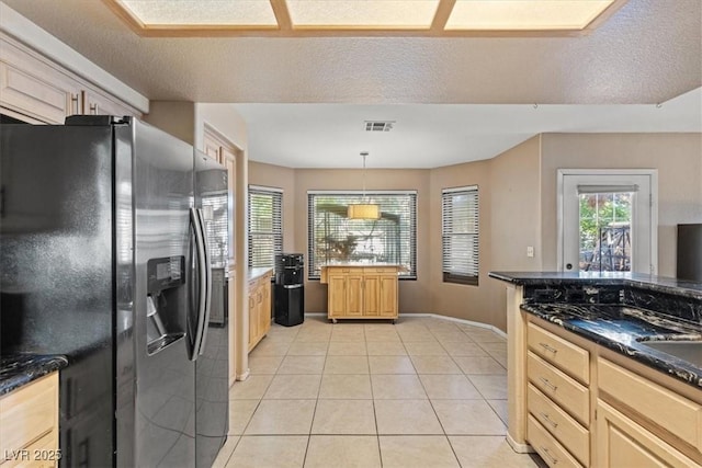
{"type": "Polygon", "coordinates": [[[0,454],[24,448],[54,430],[57,400],[57,373],[3,396],[0,399],[0,454]]]}

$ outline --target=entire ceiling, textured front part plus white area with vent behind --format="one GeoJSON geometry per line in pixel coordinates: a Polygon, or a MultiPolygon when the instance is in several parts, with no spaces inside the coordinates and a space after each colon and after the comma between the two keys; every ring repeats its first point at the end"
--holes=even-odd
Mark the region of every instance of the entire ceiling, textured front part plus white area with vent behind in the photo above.
{"type": "Polygon", "coordinates": [[[143,38],[100,0],[2,1],[150,100],[238,103],[257,161],[429,168],[545,132],[702,132],[700,0],[540,38],[143,38]]]}

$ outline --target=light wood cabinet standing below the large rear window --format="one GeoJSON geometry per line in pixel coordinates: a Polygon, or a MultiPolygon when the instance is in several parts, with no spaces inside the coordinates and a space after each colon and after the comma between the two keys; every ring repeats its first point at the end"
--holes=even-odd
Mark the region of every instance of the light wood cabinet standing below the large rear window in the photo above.
{"type": "Polygon", "coordinates": [[[397,266],[327,266],[327,317],[392,319],[398,317],[397,266]]]}

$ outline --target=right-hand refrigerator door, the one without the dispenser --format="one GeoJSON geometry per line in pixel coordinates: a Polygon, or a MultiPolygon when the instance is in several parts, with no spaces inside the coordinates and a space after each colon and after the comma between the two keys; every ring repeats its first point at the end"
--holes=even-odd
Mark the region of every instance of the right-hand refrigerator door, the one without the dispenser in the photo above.
{"type": "MultiPolygon", "coordinates": [[[[227,170],[215,160],[195,150],[195,206],[201,209],[210,258],[210,287],[213,295],[224,295],[224,288],[212,288],[213,276],[227,266],[228,259],[228,185],[227,170]],[[215,271],[213,273],[213,271],[215,271]]],[[[206,320],[201,354],[195,362],[196,464],[210,468],[225,442],[228,431],[228,324],[218,320],[213,306],[223,297],[207,300],[206,320]]]]}

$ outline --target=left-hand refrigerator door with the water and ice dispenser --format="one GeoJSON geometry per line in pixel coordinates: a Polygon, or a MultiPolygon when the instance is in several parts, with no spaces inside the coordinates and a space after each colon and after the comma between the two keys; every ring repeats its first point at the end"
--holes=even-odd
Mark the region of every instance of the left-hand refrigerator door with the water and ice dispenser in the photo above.
{"type": "MultiPolygon", "coordinates": [[[[193,152],[149,125],[135,121],[133,132],[136,390],[128,436],[134,459],[117,452],[117,465],[192,467],[195,366],[190,355],[196,316],[191,286],[197,275],[190,215],[193,152]]],[[[118,433],[118,440],[123,436],[118,433]]]]}

